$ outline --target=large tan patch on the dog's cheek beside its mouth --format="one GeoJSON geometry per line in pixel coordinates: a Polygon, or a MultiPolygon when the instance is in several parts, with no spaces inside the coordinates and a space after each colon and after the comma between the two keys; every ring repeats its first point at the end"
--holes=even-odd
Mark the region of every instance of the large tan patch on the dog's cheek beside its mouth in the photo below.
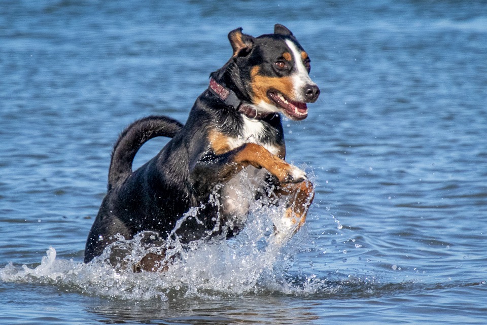
{"type": "Polygon", "coordinates": [[[277,90],[287,98],[294,100],[294,86],[291,77],[266,77],[259,75],[259,67],[252,68],[251,73],[251,87],[254,97],[252,98],[254,104],[264,101],[268,104],[274,103],[267,97],[267,91],[270,89],[277,90]]]}

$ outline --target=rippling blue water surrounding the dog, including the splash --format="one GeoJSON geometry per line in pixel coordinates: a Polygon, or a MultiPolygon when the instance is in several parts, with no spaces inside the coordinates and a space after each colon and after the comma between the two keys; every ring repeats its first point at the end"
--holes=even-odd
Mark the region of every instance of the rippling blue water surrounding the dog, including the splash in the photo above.
{"type": "Polygon", "coordinates": [[[484,2],[0,7],[0,323],[487,322],[484,2]],[[288,160],[317,185],[304,229],[254,249],[261,212],[170,274],[83,265],[118,133],[150,114],[184,122],[227,33],[277,22],[322,90],[285,122],[288,160]]]}

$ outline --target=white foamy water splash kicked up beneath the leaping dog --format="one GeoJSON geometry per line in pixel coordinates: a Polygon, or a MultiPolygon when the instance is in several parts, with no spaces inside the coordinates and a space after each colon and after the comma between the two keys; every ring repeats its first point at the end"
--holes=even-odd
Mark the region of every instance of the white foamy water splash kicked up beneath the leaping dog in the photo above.
{"type": "MultiPolygon", "coordinates": [[[[183,247],[175,239],[164,241],[163,247],[151,247],[153,251],[169,249],[168,255],[177,256],[163,272],[134,273],[131,267],[123,267],[147,254],[144,241],[151,234],[144,234],[131,240],[118,238],[87,264],[56,258],[55,248],[50,247],[40,265],[19,267],[9,263],[0,268],[0,279],[55,285],[63,291],[113,299],[293,294],[298,286],[285,274],[300,245],[293,244],[295,238],[282,243],[273,236],[274,224],[282,218],[284,208],[285,204],[252,203],[245,228],[230,240],[199,240],[183,247]],[[122,258],[114,260],[115,251],[122,251],[122,258]]],[[[191,217],[195,218],[194,211],[185,215],[191,217]]]]}

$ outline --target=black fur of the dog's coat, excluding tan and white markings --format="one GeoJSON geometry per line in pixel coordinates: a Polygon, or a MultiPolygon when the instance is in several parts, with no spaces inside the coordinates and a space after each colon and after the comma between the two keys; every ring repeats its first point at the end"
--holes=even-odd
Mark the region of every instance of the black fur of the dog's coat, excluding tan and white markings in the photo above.
{"type": "MultiPolygon", "coordinates": [[[[232,31],[229,38],[234,55],[221,69],[211,74],[212,78],[233,90],[240,100],[253,103],[252,67],[259,65],[265,74],[280,77],[282,71],[277,73],[267,65],[273,64],[275,53],[283,51],[284,39],[296,42],[286,27],[276,25],[275,31],[275,34],[259,38],[241,34],[241,29],[232,31]],[[235,33],[240,36],[237,41],[235,33]]],[[[216,223],[222,221],[215,219],[219,214],[218,207],[208,203],[210,196],[219,184],[225,184],[241,170],[234,159],[248,146],[244,143],[227,152],[216,153],[210,134],[218,130],[225,137],[237,138],[244,133],[244,119],[235,107],[225,105],[220,98],[205,90],[196,99],[184,126],[166,117],[148,117],[123,131],[112,155],[108,193],[86,242],[85,263],[99,256],[107,245],[114,242],[116,234],[130,239],[141,231],[154,231],[161,238],[167,238],[191,207],[201,207],[198,219],[202,224],[195,218],[188,218],[176,235],[183,242],[211,235],[216,223]],[[155,136],[172,139],[157,156],[132,172],[132,160],[137,150],[155,136]]],[[[279,114],[270,114],[259,123],[263,132],[255,135],[254,142],[279,149],[280,158],[284,159],[285,142],[279,114]]],[[[260,168],[255,162],[250,164],[260,168]]],[[[268,177],[264,173],[263,178],[277,183],[275,176],[268,177]]],[[[303,180],[291,176],[286,179],[289,182],[303,180]]],[[[224,213],[221,218],[225,218],[224,213]]]]}

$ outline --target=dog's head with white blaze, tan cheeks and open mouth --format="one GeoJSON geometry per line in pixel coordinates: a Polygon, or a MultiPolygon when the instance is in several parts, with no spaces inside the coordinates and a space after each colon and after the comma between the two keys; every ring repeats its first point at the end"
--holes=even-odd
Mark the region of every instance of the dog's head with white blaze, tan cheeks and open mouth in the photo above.
{"type": "Polygon", "coordinates": [[[257,38],[232,30],[229,66],[238,89],[260,112],[283,112],[292,120],[308,115],[306,103],[315,102],[318,86],[309,78],[310,59],[293,33],[276,24],[273,34],[257,38]]]}

